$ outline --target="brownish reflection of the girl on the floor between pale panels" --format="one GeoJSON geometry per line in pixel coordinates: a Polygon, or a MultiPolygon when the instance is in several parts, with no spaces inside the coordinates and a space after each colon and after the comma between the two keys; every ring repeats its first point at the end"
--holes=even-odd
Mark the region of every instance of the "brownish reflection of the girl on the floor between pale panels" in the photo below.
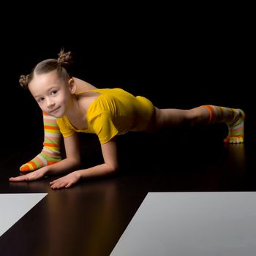
{"type": "Polygon", "coordinates": [[[50,251],[56,255],[99,255],[101,246],[112,246],[115,227],[124,216],[118,201],[118,187],[110,180],[51,192],[48,200],[50,251]],[[81,246],[70,246],[72,241],[74,246],[81,246]]]}

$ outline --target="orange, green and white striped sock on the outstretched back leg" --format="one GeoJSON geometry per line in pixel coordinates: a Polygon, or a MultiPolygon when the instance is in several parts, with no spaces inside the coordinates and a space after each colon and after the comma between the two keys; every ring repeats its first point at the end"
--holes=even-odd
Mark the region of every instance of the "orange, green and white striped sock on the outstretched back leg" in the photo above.
{"type": "Polygon", "coordinates": [[[225,143],[243,143],[244,142],[244,111],[239,108],[225,108],[213,105],[203,105],[210,111],[209,124],[225,122],[228,127],[225,143]]]}

